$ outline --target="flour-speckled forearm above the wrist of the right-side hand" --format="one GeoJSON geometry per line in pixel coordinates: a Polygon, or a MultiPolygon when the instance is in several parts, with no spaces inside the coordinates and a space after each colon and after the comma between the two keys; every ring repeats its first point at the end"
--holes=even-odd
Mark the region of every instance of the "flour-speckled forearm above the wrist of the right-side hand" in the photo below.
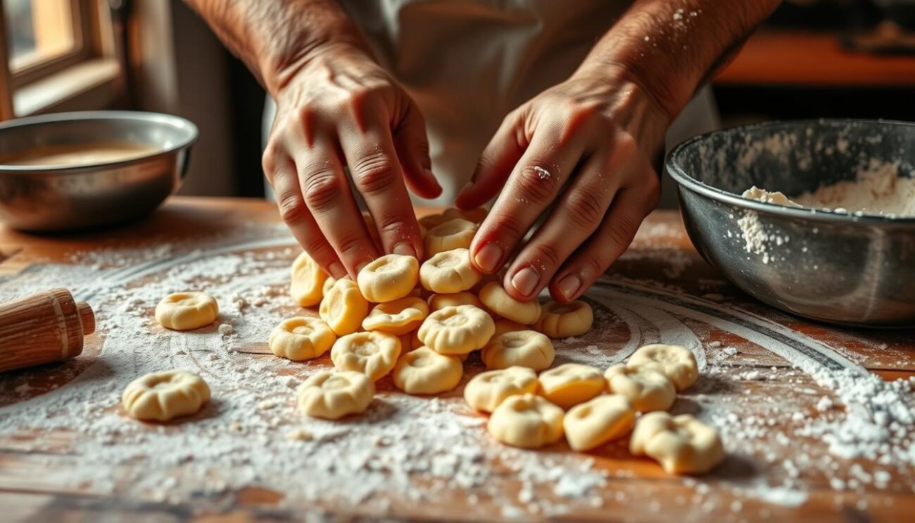
{"type": "Polygon", "coordinates": [[[638,0],[579,70],[630,73],[673,121],[777,5],[779,0],[638,0]]]}

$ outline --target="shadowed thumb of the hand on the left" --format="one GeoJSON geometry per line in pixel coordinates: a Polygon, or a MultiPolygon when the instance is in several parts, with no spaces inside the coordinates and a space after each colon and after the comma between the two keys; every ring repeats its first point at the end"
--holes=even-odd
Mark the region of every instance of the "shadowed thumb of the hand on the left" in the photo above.
{"type": "Polygon", "coordinates": [[[407,187],[418,197],[431,199],[442,194],[429,159],[429,141],[423,115],[411,103],[404,120],[393,132],[394,148],[404,169],[407,187]]]}

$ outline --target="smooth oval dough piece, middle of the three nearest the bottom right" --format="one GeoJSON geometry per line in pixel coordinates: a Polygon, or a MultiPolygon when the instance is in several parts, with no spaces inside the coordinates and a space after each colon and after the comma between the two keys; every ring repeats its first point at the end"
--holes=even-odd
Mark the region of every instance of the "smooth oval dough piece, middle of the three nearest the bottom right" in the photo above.
{"type": "Polygon", "coordinates": [[[565,413],[565,441],[576,452],[589,451],[625,436],[635,424],[635,409],[624,396],[597,396],[565,413]]]}

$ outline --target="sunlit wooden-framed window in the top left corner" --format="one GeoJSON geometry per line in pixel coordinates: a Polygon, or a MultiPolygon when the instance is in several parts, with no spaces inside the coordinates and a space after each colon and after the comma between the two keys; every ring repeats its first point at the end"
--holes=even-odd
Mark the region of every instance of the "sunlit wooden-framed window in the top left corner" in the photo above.
{"type": "Polygon", "coordinates": [[[102,109],[124,73],[108,0],[0,0],[0,119],[102,109]]]}

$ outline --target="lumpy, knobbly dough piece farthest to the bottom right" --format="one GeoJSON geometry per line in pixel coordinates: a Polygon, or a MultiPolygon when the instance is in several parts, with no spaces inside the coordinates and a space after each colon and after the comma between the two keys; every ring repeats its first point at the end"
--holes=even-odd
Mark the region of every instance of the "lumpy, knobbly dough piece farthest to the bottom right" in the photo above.
{"type": "Polygon", "coordinates": [[[648,455],[668,474],[705,474],[725,459],[718,432],[689,414],[651,412],[639,418],[632,455],[648,455]]]}

